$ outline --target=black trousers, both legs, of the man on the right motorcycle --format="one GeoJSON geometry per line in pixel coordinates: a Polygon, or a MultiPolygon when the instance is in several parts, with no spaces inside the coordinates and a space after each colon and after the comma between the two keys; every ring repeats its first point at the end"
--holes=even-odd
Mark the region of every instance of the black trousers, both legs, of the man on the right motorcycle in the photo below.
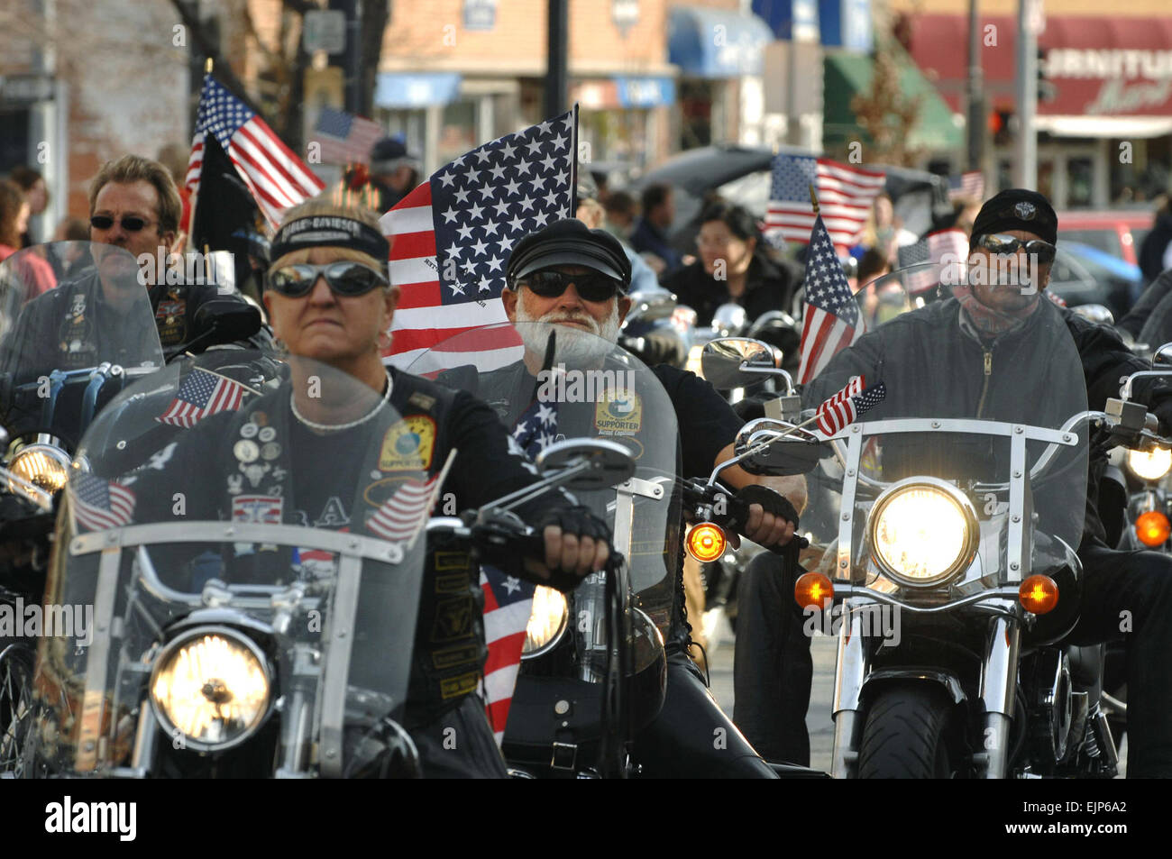
{"type": "MultiPolygon", "coordinates": [[[[1078,550],[1083,596],[1068,641],[1124,641],[1127,777],[1172,777],[1172,557],[1120,552],[1089,538],[1078,550]]],[[[809,765],[805,713],[813,666],[793,600],[793,574],[762,553],[737,588],[732,718],[770,761],[809,765]]]]}

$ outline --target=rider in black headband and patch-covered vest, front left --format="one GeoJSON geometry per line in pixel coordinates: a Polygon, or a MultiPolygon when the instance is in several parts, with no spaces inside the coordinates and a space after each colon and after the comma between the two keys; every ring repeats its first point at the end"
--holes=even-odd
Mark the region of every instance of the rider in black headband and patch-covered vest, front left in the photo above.
{"type": "MultiPolygon", "coordinates": [[[[320,464],[315,473],[289,475],[279,492],[285,498],[282,517],[300,519],[302,525],[356,530],[364,519],[360,518],[361,499],[368,495],[362,488],[375,476],[383,478],[376,483],[394,478],[396,465],[388,465],[388,457],[403,458],[413,472],[436,475],[456,450],[441,492],[454,495],[458,510],[479,507],[536,482],[536,470],[488,405],[382,364],[380,340],[387,336],[398,298],[398,288],[386,277],[388,251],[373,212],[309,200],[286,214],[273,239],[264,294],[273,332],[291,357],[328,364],[380,393],[382,398],[370,416],[390,403],[402,417],[381,449],[374,444],[379,462],[362,462],[353,454],[372,449],[372,439],[361,429],[363,416],[343,423],[323,417],[321,400],[300,395],[312,384],[307,375],[312,369],[292,360],[292,379],[277,391],[246,402],[239,413],[206,418],[189,431],[166,465],[171,480],[164,498],[173,491],[173,479],[182,480],[189,470],[206,470],[209,461],[236,450],[238,438],[255,435],[257,423],[274,430],[266,434],[270,443],[297,449],[299,462],[320,464]],[[258,414],[264,417],[254,417],[258,414]],[[395,435],[396,428],[409,429],[408,437],[414,434],[416,444],[406,455],[396,444],[404,434],[395,435]],[[307,449],[313,452],[306,454],[307,449]],[[391,473],[382,473],[388,469],[391,473]],[[347,509],[355,486],[357,500],[347,509]]],[[[161,478],[151,475],[149,479],[161,478]]],[[[544,534],[546,551],[541,561],[518,560],[510,574],[571,589],[582,575],[605,565],[608,529],[574,506],[570,496],[551,491],[517,512],[544,534]]],[[[186,517],[191,516],[189,506],[186,517]]],[[[435,572],[436,546],[428,546],[404,727],[418,748],[424,777],[506,777],[477,695],[486,654],[477,567],[462,547],[445,548],[441,577],[435,572]]]]}

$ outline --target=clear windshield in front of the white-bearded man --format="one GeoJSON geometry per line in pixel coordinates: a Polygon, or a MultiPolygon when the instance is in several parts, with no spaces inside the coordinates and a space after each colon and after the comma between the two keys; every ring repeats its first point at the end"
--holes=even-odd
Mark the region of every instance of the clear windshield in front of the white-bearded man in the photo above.
{"type": "Polygon", "coordinates": [[[631,450],[629,489],[573,495],[611,524],[636,607],[666,630],[682,541],[675,409],[659,377],[608,340],[543,322],[463,332],[407,370],[486,402],[531,457],[564,438],[604,438],[631,450]]]}

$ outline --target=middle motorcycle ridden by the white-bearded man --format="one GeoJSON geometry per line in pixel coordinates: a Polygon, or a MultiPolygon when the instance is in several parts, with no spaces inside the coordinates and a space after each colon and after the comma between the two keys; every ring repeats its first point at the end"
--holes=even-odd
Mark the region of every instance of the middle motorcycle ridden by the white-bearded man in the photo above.
{"type": "MultiPolygon", "coordinates": [[[[587,577],[565,595],[538,587],[502,749],[517,777],[638,773],[638,762],[626,750],[663,703],[663,636],[682,546],[677,430],[667,391],[624,348],[582,330],[536,322],[465,332],[421,355],[408,371],[437,375],[484,400],[531,454],[543,456],[538,451],[545,448],[547,456],[553,448],[546,445],[564,443],[557,439],[595,439],[621,445],[634,458],[631,479],[575,491],[579,503],[611,524],[614,547],[626,559],[625,581],[615,588],[626,632],[616,640],[602,622],[609,579],[587,577]],[[461,363],[462,355],[488,352],[497,356],[491,363],[461,363]],[[619,717],[601,707],[602,668],[624,642],[631,660],[619,681],[629,708],[619,717]],[[607,731],[618,737],[612,746],[618,758],[600,750],[607,731]]],[[[486,679],[490,687],[502,681],[510,682],[511,675],[490,671],[486,679]]]]}

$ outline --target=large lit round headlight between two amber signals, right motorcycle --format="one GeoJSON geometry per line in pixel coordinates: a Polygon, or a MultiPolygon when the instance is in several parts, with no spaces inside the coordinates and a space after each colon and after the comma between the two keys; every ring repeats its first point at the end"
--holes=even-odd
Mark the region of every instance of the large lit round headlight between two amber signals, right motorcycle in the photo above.
{"type": "Polygon", "coordinates": [[[875,499],[867,537],[875,564],[908,587],[942,585],[973,561],[980,525],[972,502],[931,477],[900,480],[875,499]]]}

